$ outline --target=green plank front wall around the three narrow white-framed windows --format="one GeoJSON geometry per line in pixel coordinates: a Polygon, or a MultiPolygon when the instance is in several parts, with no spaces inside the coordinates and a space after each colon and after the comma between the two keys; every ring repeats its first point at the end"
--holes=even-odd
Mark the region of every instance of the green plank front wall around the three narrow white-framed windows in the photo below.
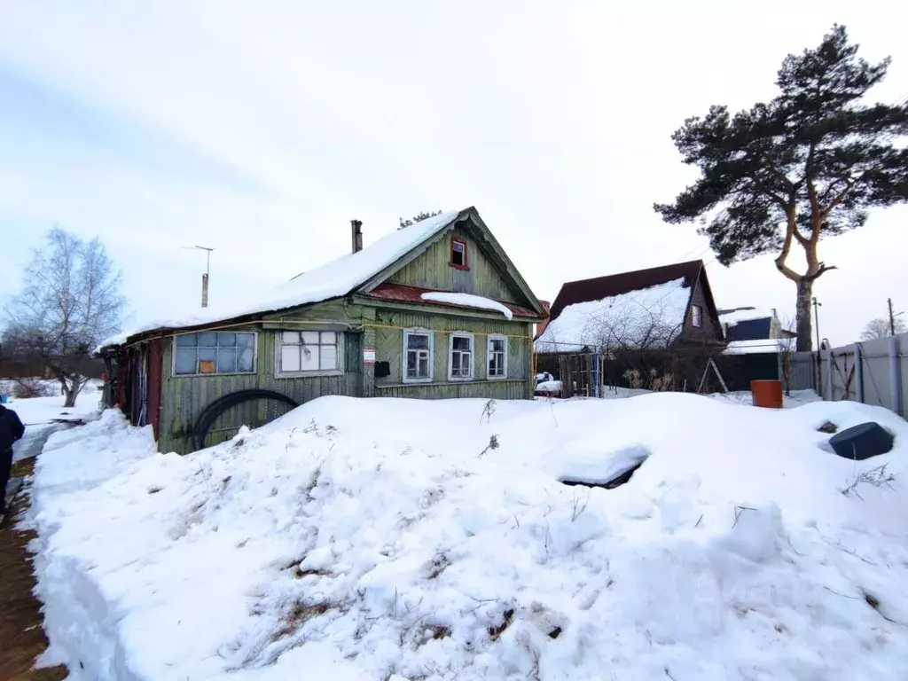
{"type": "Polygon", "coordinates": [[[480,397],[499,400],[531,398],[529,334],[531,325],[504,319],[452,317],[431,312],[401,312],[379,309],[375,317],[376,360],[387,361],[390,376],[375,380],[377,397],[458,398],[480,397]],[[433,333],[432,382],[403,382],[403,331],[427,329],[433,333]],[[451,331],[474,334],[474,380],[449,380],[449,337],[451,331]],[[490,334],[508,337],[507,379],[487,378],[490,334]]]}

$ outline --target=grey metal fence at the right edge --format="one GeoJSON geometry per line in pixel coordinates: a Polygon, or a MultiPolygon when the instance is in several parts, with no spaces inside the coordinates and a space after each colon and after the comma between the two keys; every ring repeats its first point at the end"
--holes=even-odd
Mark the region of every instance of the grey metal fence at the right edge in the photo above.
{"type": "Polygon", "coordinates": [[[796,352],[792,390],[813,389],[824,400],[855,400],[905,415],[908,333],[832,350],[796,352]]]}

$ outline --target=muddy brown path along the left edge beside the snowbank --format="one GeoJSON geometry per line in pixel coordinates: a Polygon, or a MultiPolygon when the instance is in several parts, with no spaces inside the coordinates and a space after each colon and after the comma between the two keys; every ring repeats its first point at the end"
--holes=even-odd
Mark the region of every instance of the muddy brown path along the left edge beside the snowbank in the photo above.
{"type": "MultiPolygon", "coordinates": [[[[22,440],[16,451],[13,477],[30,476],[35,469],[34,456],[53,429],[36,432],[22,440]],[[25,451],[24,451],[25,449],[25,451]]],[[[10,480],[10,491],[18,480],[10,480]]],[[[28,542],[35,538],[31,530],[15,529],[16,518],[28,508],[26,489],[15,497],[10,512],[0,526],[0,679],[4,681],[60,681],[66,678],[64,666],[34,669],[35,657],[47,647],[42,627],[41,603],[35,598],[35,577],[28,553],[28,542]]]]}

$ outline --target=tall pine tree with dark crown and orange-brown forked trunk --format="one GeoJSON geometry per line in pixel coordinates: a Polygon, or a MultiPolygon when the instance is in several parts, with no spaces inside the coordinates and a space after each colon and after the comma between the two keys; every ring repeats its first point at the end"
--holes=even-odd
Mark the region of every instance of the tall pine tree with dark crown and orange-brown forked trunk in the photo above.
{"type": "Polygon", "coordinates": [[[775,267],[797,287],[797,349],[812,350],[814,281],[836,269],[817,244],[860,227],[873,207],[908,201],[908,100],[865,104],[890,60],[868,64],[834,25],[816,49],[789,54],[768,104],[729,114],[713,106],[686,120],[672,139],[684,163],[702,173],[674,203],[656,204],[667,222],[704,226],[724,265],[775,253],[775,267]],[[788,263],[794,246],[806,269],[788,263]]]}

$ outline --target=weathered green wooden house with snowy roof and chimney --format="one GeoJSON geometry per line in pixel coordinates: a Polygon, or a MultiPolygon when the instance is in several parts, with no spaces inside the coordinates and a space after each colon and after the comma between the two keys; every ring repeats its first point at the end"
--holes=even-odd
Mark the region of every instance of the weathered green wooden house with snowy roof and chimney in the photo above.
{"type": "Polygon", "coordinates": [[[105,398],[162,451],[231,439],[322,395],[531,399],[546,317],[475,208],[416,222],[232,310],[105,341],[105,398]]]}

